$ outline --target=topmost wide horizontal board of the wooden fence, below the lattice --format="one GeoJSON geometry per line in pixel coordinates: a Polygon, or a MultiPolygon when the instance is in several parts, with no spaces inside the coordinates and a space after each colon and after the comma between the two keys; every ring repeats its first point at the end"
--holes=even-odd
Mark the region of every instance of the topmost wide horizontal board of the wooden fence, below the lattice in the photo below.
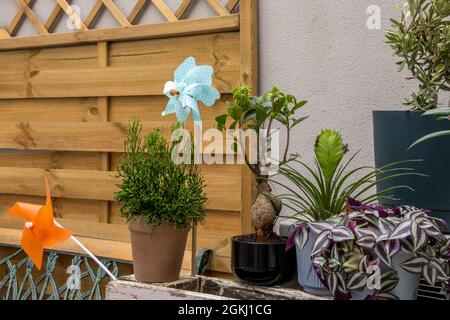
{"type": "Polygon", "coordinates": [[[231,93],[239,84],[238,48],[235,33],[186,37],[176,43],[118,43],[110,47],[107,67],[95,64],[93,46],[31,50],[17,56],[0,53],[2,61],[13,64],[0,70],[0,99],[161,95],[166,81],[173,79],[174,70],[189,55],[199,64],[212,65],[214,86],[231,93]],[[59,68],[55,55],[62,64],[59,68]]]}

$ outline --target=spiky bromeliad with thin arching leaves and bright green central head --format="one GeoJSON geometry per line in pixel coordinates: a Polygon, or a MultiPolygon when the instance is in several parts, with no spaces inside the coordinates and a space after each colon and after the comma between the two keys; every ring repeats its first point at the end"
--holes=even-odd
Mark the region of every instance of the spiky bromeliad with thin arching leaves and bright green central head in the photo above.
{"type": "Polygon", "coordinates": [[[379,192],[374,188],[389,179],[405,175],[419,175],[413,169],[402,167],[409,161],[386,165],[376,169],[370,166],[352,168],[357,154],[344,161],[348,153],[339,132],[323,130],[318,136],[314,147],[314,165],[295,160],[299,168],[290,164],[280,169],[279,174],[288,183],[274,181],[286,190],[278,198],[283,205],[295,212],[294,218],[305,221],[323,221],[337,216],[345,211],[346,199],[360,199],[365,204],[374,203],[380,199],[390,199],[390,192],[408,186],[394,186],[379,192]],[[383,175],[383,177],[377,176],[383,175]]]}

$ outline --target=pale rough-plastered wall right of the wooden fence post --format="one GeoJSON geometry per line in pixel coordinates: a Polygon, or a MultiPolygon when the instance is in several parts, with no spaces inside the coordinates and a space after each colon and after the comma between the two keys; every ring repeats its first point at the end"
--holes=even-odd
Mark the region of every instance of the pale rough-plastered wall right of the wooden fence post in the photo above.
{"type": "Polygon", "coordinates": [[[358,164],[373,164],[372,110],[402,109],[413,88],[384,43],[396,2],[260,0],[261,89],[277,85],[309,100],[311,118],[294,138],[307,159],[320,130],[334,128],[361,150],[358,164]],[[370,5],[381,9],[381,30],[367,28],[370,5]]]}

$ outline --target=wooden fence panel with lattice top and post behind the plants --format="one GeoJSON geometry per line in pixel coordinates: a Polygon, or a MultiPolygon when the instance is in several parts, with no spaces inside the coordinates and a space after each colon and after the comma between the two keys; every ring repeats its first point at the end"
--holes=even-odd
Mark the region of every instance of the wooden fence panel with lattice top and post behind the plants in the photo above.
{"type": "MultiPolygon", "coordinates": [[[[38,1],[16,1],[17,14],[0,28],[0,243],[18,244],[23,222],[4,214],[16,201],[42,203],[47,176],[61,224],[94,253],[131,259],[128,230],[112,201],[112,171],[130,117],[138,116],[146,131],[176,121],[161,116],[167,103],[161,92],[188,56],[214,66],[214,85],[223,96],[214,108],[202,108],[204,129],[226,110],[234,87],[245,82],[257,88],[257,0],[205,1],[217,16],[183,19],[192,0],[176,11],[163,0],[139,0],[128,16],[113,1],[99,0],[81,21],[70,1],[56,0],[45,22],[33,11],[38,1]],[[137,24],[149,6],[167,22],[137,24]],[[102,10],[120,27],[92,29],[102,10]],[[80,30],[52,32],[67,16],[80,30]],[[16,36],[24,19],[39,35],[16,36]]],[[[197,246],[213,249],[211,270],[227,273],[230,237],[251,231],[253,179],[241,165],[202,170],[209,201],[197,246]]],[[[70,243],[61,250],[77,251],[70,243]]],[[[187,251],[186,268],[189,258],[187,251]]]]}

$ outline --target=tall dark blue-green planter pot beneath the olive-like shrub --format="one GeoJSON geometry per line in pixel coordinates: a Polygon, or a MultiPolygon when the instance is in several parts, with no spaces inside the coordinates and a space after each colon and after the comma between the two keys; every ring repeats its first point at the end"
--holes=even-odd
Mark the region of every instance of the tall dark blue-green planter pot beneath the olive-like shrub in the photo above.
{"type": "Polygon", "coordinates": [[[417,139],[436,131],[449,130],[450,123],[422,117],[421,112],[414,111],[375,111],[373,121],[378,168],[397,161],[421,159],[423,162],[408,164],[408,167],[429,176],[407,176],[381,183],[379,190],[395,185],[408,185],[415,190],[394,191],[394,197],[401,200],[385,200],[383,204],[430,209],[433,216],[450,224],[450,138],[430,140],[408,151],[417,139]]]}

